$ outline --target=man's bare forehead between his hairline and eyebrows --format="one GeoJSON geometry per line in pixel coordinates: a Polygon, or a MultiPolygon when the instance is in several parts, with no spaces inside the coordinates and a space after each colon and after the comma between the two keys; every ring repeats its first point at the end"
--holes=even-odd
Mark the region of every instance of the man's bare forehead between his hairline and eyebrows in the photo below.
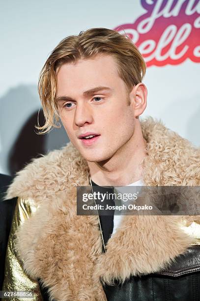
{"type": "Polygon", "coordinates": [[[111,67],[113,62],[110,61],[110,56],[105,57],[104,63],[98,57],[96,61],[83,59],[77,63],[63,64],[57,73],[57,97],[66,94],[75,97],[72,95],[74,93],[90,96],[98,91],[112,92],[114,87],[119,85],[119,75],[117,68],[111,67]]]}

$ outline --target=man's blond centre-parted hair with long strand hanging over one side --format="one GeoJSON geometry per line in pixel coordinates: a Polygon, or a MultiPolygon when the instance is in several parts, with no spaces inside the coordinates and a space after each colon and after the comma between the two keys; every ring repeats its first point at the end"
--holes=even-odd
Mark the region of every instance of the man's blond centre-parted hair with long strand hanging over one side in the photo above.
{"type": "Polygon", "coordinates": [[[118,74],[128,90],[142,82],[146,65],[137,47],[125,35],[106,28],[92,28],[70,35],[59,42],[45,62],[38,82],[38,92],[43,106],[45,124],[38,126],[40,133],[52,126],[59,127],[56,70],[62,64],[87,59],[97,54],[112,55],[117,63],[118,74]]]}

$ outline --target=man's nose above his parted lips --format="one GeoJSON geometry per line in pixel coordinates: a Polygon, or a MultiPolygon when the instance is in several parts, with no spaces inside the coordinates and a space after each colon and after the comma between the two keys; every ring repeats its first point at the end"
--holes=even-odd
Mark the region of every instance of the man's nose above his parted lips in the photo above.
{"type": "Polygon", "coordinates": [[[83,126],[85,123],[92,123],[92,110],[87,104],[77,104],[74,122],[77,126],[83,126]]]}

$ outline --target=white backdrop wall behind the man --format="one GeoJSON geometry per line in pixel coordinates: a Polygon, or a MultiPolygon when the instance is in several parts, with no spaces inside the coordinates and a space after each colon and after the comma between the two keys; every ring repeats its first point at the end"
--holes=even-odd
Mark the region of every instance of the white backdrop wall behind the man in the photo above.
{"type": "MultiPolygon", "coordinates": [[[[166,60],[150,63],[143,81],[148,89],[143,117],[151,115],[163,120],[169,128],[200,146],[199,0],[1,1],[0,172],[9,173],[7,158],[13,141],[30,114],[40,107],[39,72],[57,43],[67,35],[94,27],[126,27],[129,34],[134,23],[136,28],[145,20],[144,14],[149,18],[145,25],[150,28],[150,22],[154,24],[144,35],[140,34],[139,44],[149,38],[158,46],[163,32],[170,27],[177,32],[169,45],[167,40],[172,31],[162,41],[163,45],[166,43],[162,55],[169,52],[168,46],[175,39],[176,54],[188,50],[179,60],[168,56],[166,60]],[[178,30],[184,26],[187,28],[182,35],[179,32],[178,40],[178,30]],[[191,55],[194,49],[195,59],[191,55]],[[155,65],[158,63],[160,66],[155,65]]],[[[66,141],[62,139],[59,143],[50,142],[47,150],[66,143],[67,137],[66,141]]]]}

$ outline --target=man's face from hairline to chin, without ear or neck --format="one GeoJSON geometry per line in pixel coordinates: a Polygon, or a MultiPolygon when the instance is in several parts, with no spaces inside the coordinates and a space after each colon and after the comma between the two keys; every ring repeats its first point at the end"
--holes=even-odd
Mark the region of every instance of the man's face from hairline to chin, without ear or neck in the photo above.
{"type": "Polygon", "coordinates": [[[100,162],[121,151],[133,135],[134,112],[113,57],[97,55],[63,64],[57,82],[60,119],[82,156],[100,162]],[[95,136],[82,139],[90,134],[95,136]]]}

